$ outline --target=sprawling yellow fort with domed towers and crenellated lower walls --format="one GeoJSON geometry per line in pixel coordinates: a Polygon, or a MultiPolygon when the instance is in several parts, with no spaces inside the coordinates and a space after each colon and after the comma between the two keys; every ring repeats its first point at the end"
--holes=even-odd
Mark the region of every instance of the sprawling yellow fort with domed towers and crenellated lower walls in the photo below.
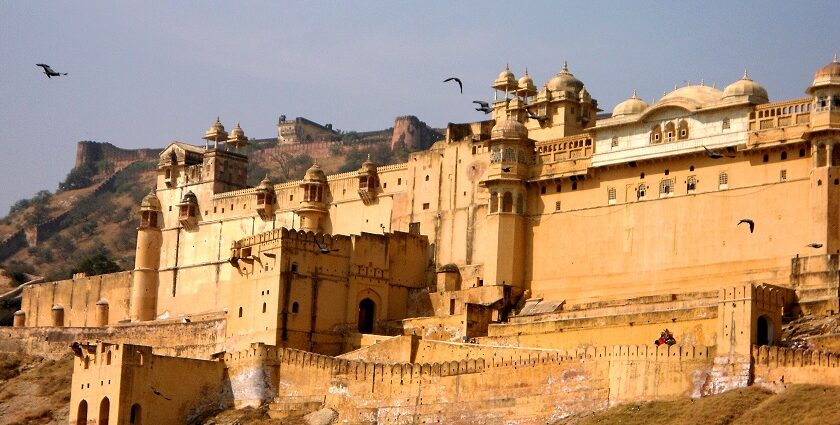
{"type": "Polygon", "coordinates": [[[832,347],[780,344],[840,313],[840,62],[797,99],[734,71],[614,106],[558,68],[506,67],[485,120],[405,163],[293,182],[247,186],[248,138],[216,120],[160,153],[133,270],[29,285],[0,335],[72,349],[71,424],[548,423],[840,385],[832,347]]]}

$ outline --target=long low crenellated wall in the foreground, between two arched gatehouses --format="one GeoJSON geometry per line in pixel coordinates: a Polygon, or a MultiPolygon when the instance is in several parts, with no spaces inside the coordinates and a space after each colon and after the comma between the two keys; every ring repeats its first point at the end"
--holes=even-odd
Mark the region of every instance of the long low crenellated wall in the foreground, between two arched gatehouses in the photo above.
{"type": "Polygon", "coordinates": [[[699,396],[711,388],[712,357],[712,347],[645,345],[511,349],[489,358],[389,364],[259,345],[226,354],[225,364],[238,406],[326,394],[325,406],[339,420],[490,423],[543,422],[620,402],[699,396]]]}

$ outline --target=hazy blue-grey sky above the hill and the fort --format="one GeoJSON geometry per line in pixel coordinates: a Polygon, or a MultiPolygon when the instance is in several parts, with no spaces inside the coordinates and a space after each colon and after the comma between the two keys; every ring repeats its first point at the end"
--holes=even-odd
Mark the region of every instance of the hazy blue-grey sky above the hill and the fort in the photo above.
{"type": "Polygon", "coordinates": [[[634,88],[718,87],[744,68],[771,100],[804,97],[840,51],[840,4],[0,0],[0,216],[54,191],[76,142],[200,144],[221,116],[276,135],[281,114],[344,130],[412,114],[484,119],[473,99],[509,63],[537,86],[563,61],[604,110],[634,88]],[[36,63],[66,77],[47,79],[36,63]],[[459,76],[464,94],[441,80],[459,76]]]}

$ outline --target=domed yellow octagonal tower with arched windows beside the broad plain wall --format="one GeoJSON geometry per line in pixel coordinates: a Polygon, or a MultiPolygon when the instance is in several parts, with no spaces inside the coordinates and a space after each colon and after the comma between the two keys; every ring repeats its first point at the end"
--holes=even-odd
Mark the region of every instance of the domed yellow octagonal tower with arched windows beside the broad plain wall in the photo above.
{"type": "Polygon", "coordinates": [[[481,181],[490,192],[484,282],[523,287],[524,266],[515,260],[515,253],[525,250],[525,181],[534,148],[528,140],[528,130],[512,117],[493,127],[489,148],[490,166],[481,181]]]}

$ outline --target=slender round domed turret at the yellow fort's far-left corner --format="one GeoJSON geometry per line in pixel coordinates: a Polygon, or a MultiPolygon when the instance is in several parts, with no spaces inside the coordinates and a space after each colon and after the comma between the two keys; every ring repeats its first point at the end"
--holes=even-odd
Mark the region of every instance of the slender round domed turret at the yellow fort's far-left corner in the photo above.
{"type": "MultiPolygon", "coordinates": [[[[134,280],[131,284],[129,300],[129,317],[133,322],[155,318],[162,243],[160,212],[160,200],[155,193],[146,195],[140,203],[140,227],[137,228],[134,280]]],[[[107,303],[105,308],[107,309],[107,303]]],[[[107,323],[107,318],[104,318],[104,322],[107,323]]]]}

